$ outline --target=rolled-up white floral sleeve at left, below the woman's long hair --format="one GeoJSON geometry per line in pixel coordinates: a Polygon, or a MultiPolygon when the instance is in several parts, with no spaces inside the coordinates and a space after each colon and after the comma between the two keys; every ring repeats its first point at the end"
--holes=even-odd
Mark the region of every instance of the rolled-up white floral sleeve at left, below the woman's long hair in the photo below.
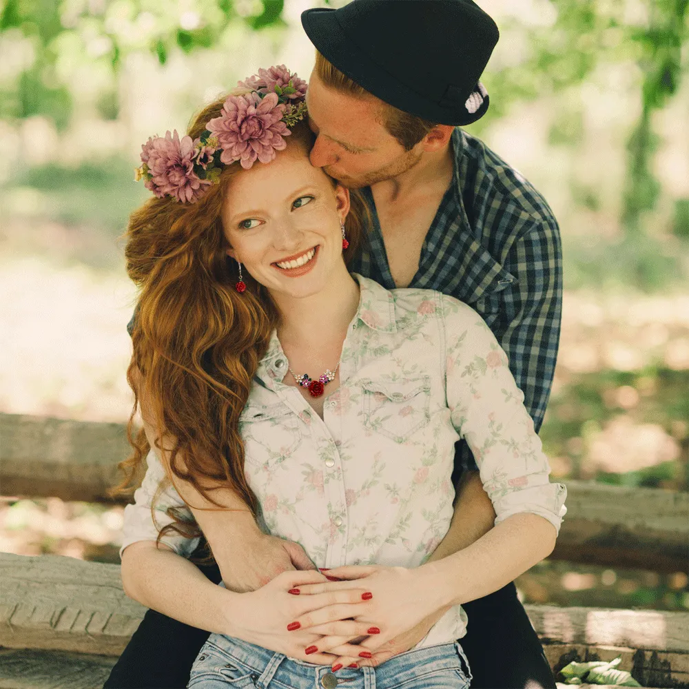
{"type": "MultiPolygon", "coordinates": [[[[167,481],[165,469],[158,455],[151,450],[146,457],[147,471],[141,482],[141,486],[134,491],[134,504],[127,505],[124,512],[123,542],[120,548],[120,557],[127,546],[137,541],[155,541],[158,532],[172,524],[174,520],[166,513],[169,507],[177,509],[178,514],[184,520],[194,521],[194,515],[189,510],[179,493],[172,484],[167,481]],[[165,481],[167,486],[161,491],[154,507],[155,522],[151,511],[151,505],[156,497],[156,491],[161,482],[165,481]]],[[[161,538],[161,543],[169,546],[178,555],[190,557],[196,550],[200,542],[200,537],[186,538],[176,533],[169,533],[161,538]]]]}

